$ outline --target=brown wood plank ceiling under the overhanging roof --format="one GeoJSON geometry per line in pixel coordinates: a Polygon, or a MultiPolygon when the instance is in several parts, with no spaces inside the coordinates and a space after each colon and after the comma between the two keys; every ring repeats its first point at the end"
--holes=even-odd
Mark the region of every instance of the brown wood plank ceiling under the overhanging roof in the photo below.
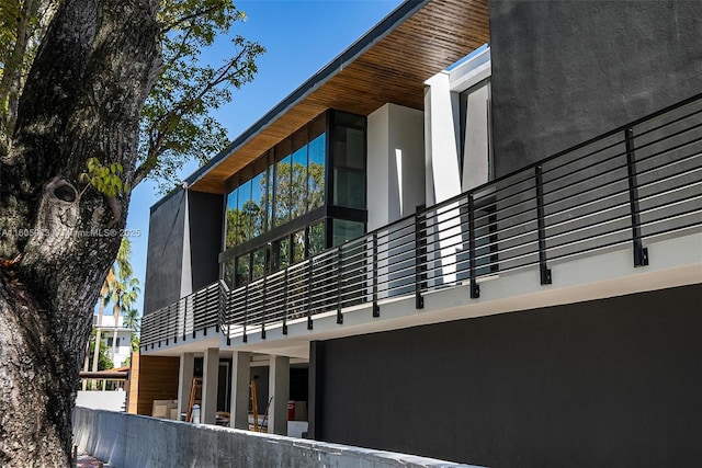
{"type": "Polygon", "coordinates": [[[191,190],[224,194],[227,179],[327,109],[369,115],[392,102],[423,110],[423,82],[487,42],[487,0],[432,0],[208,168],[191,190]]]}

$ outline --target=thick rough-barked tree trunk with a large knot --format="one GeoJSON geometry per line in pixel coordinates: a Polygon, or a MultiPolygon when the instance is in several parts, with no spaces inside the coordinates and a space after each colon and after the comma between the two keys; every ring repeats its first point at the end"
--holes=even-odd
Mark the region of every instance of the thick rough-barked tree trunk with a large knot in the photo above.
{"type": "MultiPolygon", "coordinates": [[[[0,465],[69,466],[92,309],[128,193],[82,187],[86,161],[124,167],[160,67],[156,0],[66,0],[0,152],[0,465]],[[84,190],[83,190],[84,189],[84,190]]],[[[97,343],[99,345],[99,343],[97,343]]]]}

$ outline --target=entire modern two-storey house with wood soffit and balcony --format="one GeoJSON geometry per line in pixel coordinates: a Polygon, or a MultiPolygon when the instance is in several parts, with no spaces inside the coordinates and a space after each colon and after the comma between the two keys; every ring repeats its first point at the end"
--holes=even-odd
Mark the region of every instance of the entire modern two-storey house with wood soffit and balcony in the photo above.
{"type": "Polygon", "coordinates": [[[279,434],[295,400],[328,442],[702,465],[701,19],[398,7],[151,207],[141,355],[180,359],[178,412],[202,376],[246,429],[253,379],[279,434]]]}

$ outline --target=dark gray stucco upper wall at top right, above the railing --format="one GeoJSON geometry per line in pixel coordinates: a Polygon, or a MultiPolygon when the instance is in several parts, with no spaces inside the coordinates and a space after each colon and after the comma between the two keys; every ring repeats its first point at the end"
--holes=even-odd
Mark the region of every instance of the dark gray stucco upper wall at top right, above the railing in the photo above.
{"type": "Polygon", "coordinates": [[[702,92],[702,2],[489,0],[500,176],[702,92]]]}

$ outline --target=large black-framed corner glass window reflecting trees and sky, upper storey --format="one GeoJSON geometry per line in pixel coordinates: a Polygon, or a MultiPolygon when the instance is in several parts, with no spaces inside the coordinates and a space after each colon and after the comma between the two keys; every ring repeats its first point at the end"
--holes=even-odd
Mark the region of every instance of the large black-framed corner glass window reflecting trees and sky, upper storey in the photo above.
{"type": "Polygon", "coordinates": [[[365,132],[363,116],[324,113],[233,178],[227,284],[241,286],[364,233],[365,132]]]}

